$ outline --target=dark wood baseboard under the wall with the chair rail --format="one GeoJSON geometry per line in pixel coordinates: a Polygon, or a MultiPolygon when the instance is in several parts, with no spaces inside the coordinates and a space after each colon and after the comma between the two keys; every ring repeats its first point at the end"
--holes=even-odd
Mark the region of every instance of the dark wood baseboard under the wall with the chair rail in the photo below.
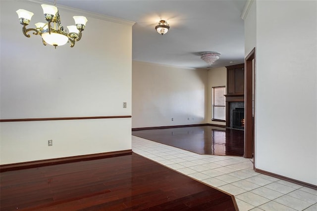
{"type": "Polygon", "coordinates": [[[90,155],[79,155],[79,156],[53,158],[53,159],[39,160],[39,161],[29,161],[29,162],[23,162],[23,163],[4,164],[4,165],[0,165],[0,172],[10,171],[10,170],[19,170],[19,169],[30,169],[30,168],[37,168],[37,167],[43,167],[43,166],[52,166],[56,164],[73,163],[73,162],[79,162],[79,161],[97,160],[102,158],[131,155],[131,154],[132,154],[132,149],[129,149],[129,150],[97,153],[97,154],[90,154],[90,155]]]}

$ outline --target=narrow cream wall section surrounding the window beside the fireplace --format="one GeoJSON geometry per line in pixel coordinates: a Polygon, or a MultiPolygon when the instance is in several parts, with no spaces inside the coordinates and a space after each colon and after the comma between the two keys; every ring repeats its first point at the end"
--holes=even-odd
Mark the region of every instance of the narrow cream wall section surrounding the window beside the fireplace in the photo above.
{"type": "Polygon", "coordinates": [[[212,87],[227,86],[227,68],[211,68],[208,70],[208,123],[225,126],[225,122],[212,121],[212,87]]]}

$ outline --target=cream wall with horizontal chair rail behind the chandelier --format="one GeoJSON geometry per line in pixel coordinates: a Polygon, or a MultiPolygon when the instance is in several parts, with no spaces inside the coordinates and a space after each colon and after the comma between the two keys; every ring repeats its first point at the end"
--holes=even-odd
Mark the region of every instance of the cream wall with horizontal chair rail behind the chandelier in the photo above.
{"type": "MultiPolygon", "coordinates": [[[[22,34],[19,8],[35,13],[28,28],[45,21],[38,3],[1,0],[1,119],[131,115],[132,24],[85,14],[81,41],[54,49],[22,34]]],[[[59,14],[64,27],[82,15],[59,14]]],[[[130,118],[1,123],[0,132],[1,164],[131,149],[130,118]]]]}

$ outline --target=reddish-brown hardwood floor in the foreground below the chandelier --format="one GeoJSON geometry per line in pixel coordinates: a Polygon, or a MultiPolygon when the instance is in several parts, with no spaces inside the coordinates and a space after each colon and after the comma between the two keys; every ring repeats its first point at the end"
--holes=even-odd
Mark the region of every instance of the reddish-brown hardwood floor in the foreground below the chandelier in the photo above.
{"type": "Polygon", "coordinates": [[[235,211],[233,200],[135,153],[0,174],[1,211],[235,211]]]}

